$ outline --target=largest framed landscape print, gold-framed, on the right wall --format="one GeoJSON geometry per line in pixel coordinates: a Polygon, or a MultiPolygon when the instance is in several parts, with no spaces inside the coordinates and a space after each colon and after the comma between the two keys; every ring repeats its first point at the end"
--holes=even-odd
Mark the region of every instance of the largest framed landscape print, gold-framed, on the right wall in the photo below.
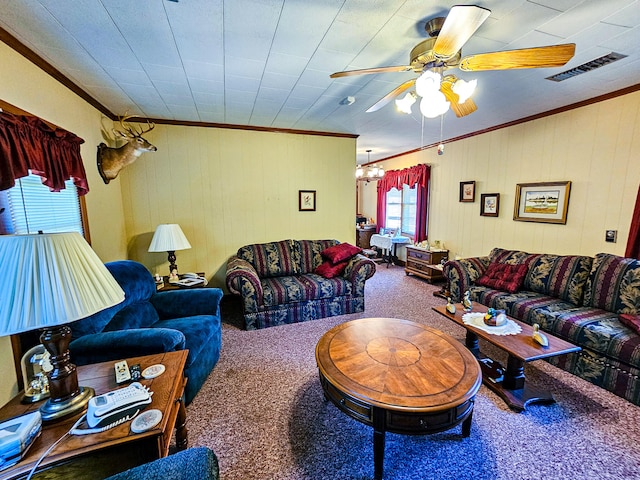
{"type": "Polygon", "coordinates": [[[519,183],[513,219],[521,222],[567,223],[571,182],[519,183]]]}

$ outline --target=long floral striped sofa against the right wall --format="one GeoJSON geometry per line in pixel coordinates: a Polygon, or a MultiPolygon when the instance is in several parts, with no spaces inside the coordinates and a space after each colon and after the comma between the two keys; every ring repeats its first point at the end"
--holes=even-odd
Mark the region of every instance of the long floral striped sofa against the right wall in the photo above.
{"type": "Polygon", "coordinates": [[[579,345],[580,353],[548,361],[640,405],[640,261],[495,248],[449,261],[443,273],[452,300],[469,290],[472,300],[579,345]]]}

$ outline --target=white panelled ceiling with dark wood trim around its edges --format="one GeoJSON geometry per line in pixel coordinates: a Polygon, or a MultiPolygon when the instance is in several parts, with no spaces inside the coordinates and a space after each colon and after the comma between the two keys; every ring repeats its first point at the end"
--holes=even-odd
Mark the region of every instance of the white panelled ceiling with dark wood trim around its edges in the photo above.
{"type": "MultiPolygon", "coordinates": [[[[116,115],[359,135],[358,162],[440,140],[440,119],[393,102],[365,110],[414,73],[330,79],[407,65],[424,24],[455,2],[428,0],[1,0],[0,26],[116,115]],[[347,96],[353,105],[341,105],[347,96]]],[[[478,110],[444,117],[444,139],[640,84],[638,0],[487,0],[463,55],[575,43],[564,67],[456,72],[477,78],[478,110]],[[598,70],[545,77],[610,52],[598,70]]]]}

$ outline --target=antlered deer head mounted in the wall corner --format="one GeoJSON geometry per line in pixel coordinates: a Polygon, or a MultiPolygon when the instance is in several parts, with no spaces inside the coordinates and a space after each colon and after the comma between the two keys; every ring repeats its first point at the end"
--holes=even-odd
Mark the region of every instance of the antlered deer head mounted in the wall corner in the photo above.
{"type": "Polygon", "coordinates": [[[113,134],[116,137],[122,137],[127,143],[118,148],[108,147],[106,144],[101,143],[98,145],[98,172],[104,183],[109,183],[111,180],[118,176],[120,170],[127,165],[131,165],[135,162],[140,155],[144,152],[155,152],[156,147],[147,142],[142,135],[153,130],[155,125],[147,121],[147,129],[140,127],[140,131],[126,122],[129,118],[135,115],[125,115],[119,117],[121,130],[113,129],[113,134]]]}

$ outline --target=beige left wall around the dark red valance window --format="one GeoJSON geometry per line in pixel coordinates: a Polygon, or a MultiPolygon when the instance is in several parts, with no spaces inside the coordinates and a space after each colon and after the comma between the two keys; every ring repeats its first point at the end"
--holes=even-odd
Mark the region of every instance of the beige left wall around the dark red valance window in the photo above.
{"type": "MultiPolygon", "coordinates": [[[[92,246],[107,262],[126,255],[119,182],[104,185],[95,166],[101,114],[56,80],[0,42],[0,99],[69,130],[85,140],[81,147],[90,192],[86,195],[92,246]]],[[[17,393],[11,344],[0,338],[0,405],[17,393]]]]}

